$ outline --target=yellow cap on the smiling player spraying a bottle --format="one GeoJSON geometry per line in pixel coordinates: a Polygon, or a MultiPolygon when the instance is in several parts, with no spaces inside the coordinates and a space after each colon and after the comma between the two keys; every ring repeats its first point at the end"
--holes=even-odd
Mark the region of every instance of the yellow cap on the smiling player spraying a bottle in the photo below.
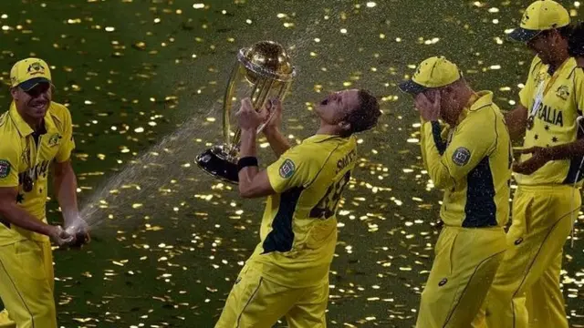
{"type": "Polygon", "coordinates": [[[26,58],[12,67],[10,82],[12,87],[28,91],[39,83],[51,83],[51,71],[43,59],[26,58]]]}

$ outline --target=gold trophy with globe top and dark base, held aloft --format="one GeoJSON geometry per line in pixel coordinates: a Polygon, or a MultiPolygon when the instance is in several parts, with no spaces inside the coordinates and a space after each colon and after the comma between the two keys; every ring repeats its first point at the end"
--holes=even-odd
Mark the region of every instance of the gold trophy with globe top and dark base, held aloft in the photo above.
{"type": "MultiPolygon", "coordinates": [[[[269,99],[282,101],[294,77],[296,68],[291,65],[284,46],[260,41],[240,49],[224,95],[223,145],[197,156],[197,165],[216,178],[236,184],[241,131],[232,126],[232,120],[239,110],[240,100],[250,97],[255,110],[259,111],[269,99]]],[[[260,126],[257,132],[263,128],[264,125],[260,126]]]]}

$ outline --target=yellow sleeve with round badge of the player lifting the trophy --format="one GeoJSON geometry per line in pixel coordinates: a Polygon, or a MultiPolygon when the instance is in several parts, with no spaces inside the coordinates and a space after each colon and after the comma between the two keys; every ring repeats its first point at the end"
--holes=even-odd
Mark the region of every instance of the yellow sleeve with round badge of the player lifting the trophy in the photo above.
{"type": "Polygon", "coordinates": [[[307,186],[318,174],[318,160],[303,144],[288,149],[267,167],[267,178],[277,193],[307,186]]]}

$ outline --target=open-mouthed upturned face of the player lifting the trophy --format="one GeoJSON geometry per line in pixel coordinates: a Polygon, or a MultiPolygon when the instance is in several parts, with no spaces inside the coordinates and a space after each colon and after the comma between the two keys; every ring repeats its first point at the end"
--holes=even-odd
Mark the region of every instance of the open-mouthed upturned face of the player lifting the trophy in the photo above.
{"type": "Polygon", "coordinates": [[[350,89],[333,92],[317,106],[320,119],[329,125],[339,124],[351,110],[359,107],[359,90],[350,89]]]}

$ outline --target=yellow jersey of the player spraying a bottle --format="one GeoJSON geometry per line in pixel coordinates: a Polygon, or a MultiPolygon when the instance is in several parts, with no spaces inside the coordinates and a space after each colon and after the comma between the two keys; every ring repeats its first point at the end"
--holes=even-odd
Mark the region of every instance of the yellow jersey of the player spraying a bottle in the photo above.
{"type": "MultiPolygon", "coordinates": [[[[47,222],[48,168],[53,160],[64,162],[75,148],[71,115],[52,102],[45,117],[44,134],[36,134],[18,114],[14,103],[0,117],[0,187],[17,187],[16,203],[38,220],[47,222]]],[[[47,236],[0,223],[0,245],[47,236]]]]}

